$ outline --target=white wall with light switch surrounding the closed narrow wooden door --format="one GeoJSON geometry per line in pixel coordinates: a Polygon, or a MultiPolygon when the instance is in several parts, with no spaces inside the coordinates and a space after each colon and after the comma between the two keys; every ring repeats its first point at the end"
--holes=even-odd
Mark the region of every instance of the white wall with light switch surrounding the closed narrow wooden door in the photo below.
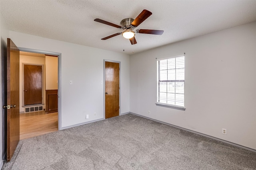
{"type": "Polygon", "coordinates": [[[130,111],[129,55],[14,31],[10,31],[10,38],[17,47],[61,53],[62,128],[104,118],[104,86],[100,84],[104,59],[121,62],[120,112],[130,111]],[[86,114],[89,119],[85,119],[86,114]]]}

